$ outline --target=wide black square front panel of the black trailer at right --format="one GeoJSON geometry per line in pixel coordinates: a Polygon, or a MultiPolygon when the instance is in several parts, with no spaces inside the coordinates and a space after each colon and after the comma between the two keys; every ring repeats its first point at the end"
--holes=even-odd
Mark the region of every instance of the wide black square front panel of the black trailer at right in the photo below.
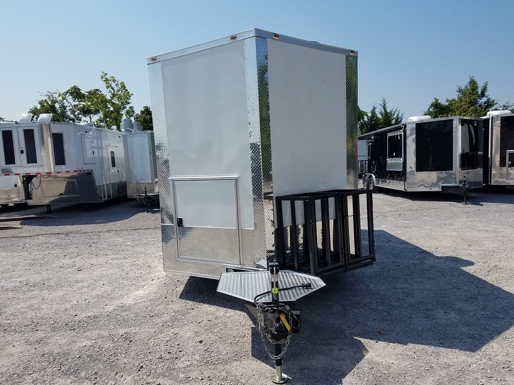
{"type": "Polygon", "coordinates": [[[453,120],[416,124],[416,171],[453,170],[453,120]]]}

